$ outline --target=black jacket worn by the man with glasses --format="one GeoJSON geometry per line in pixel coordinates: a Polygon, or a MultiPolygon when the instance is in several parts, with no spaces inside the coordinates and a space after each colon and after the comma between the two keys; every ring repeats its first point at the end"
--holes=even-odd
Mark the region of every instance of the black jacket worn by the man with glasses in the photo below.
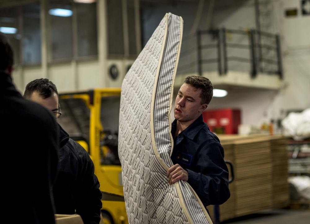
{"type": "Polygon", "coordinates": [[[102,193],[94,174],[94,164],[87,151],[59,127],[59,173],[54,185],[56,212],[77,213],[84,224],[99,223],[102,193]]]}

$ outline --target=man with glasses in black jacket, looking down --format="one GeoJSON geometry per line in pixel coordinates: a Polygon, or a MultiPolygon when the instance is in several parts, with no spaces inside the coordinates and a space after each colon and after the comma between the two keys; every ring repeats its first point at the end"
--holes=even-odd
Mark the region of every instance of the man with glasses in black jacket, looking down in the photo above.
{"type": "MultiPolygon", "coordinates": [[[[27,84],[24,97],[47,107],[55,118],[61,115],[59,97],[54,83],[47,78],[27,84]]],[[[59,173],[54,186],[57,214],[77,213],[84,224],[98,224],[102,208],[100,184],[94,164],[86,150],[69,138],[60,128],[59,173]]]]}

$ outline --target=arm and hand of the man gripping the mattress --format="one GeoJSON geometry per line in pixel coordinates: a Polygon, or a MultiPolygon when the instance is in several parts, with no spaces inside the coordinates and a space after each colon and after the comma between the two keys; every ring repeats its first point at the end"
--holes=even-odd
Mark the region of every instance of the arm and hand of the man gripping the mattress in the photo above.
{"type": "Polygon", "coordinates": [[[169,183],[187,181],[204,204],[223,204],[230,197],[230,192],[228,169],[221,152],[224,155],[224,149],[218,142],[203,146],[194,162],[196,170],[183,169],[175,164],[167,172],[169,183]]]}

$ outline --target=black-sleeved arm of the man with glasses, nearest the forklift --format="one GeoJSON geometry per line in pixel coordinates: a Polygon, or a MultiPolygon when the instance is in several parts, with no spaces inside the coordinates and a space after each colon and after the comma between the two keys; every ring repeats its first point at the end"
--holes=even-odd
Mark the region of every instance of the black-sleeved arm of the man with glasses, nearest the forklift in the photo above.
{"type": "Polygon", "coordinates": [[[81,159],[77,177],[78,201],[76,213],[82,217],[85,224],[98,224],[102,208],[100,183],[94,174],[95,167],[87,151],[78,143],[74,147],[79,147],[77,151],[81,159]]]}

